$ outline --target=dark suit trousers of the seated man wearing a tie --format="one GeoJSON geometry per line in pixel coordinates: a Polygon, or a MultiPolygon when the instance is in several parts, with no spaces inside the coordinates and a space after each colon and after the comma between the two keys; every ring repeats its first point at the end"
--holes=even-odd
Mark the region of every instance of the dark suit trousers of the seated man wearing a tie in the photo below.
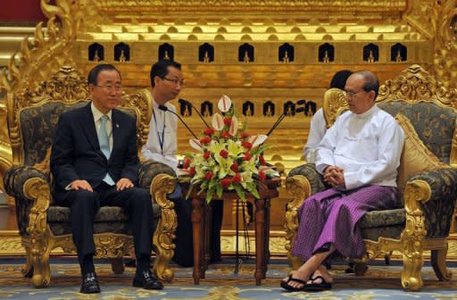
{"type": "Polygon", "coordinates": [[[71,190],[58,204],[70,207],[73,242],[78,250],[79,263],[84,256],[96,253],[94,244],[94,219],[100,206],[120,206],[129,215],[135,254],[151,255],[154,233],[151,195],[145,188],[131,187],[116,191],[115,186],[104,182],[94,189],[71,190]]]}

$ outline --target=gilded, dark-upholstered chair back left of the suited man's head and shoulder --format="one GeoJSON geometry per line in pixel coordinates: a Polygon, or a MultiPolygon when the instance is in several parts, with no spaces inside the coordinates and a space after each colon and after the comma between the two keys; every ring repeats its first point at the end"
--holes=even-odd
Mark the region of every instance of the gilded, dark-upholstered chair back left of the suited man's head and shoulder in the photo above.
{"type": "Polygon", "coordinates": [[[8,98],[13,164],[38,164],[37,169],[48,171],[46,156],[50,154],[60,114],[88,101],[90,96],[86,79],[71,67],[62,67],[35,90],[27,88],[8,98]]]}

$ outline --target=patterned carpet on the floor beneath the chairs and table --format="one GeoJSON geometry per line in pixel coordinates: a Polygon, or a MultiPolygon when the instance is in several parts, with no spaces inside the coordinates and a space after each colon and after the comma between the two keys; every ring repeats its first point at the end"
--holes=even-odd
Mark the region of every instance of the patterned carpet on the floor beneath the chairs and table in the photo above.
{"type": "MultiPolygon", "coordinates": [[[[254,265],[249,260],[242,264],[238,274],[234,274],[234,262],[212,264],[206,271],[206,279],[195,286],[192,269],[176,268],[176,279],[162,291],[147,291],[131,287],[135,269],[127,268],[121,275],[113,275],[111,266],[104,261],[96,262],[96,272],[100,278],[102,294],[87,296],[79,294],[79,266],[74,259],[54,259],[51,265],[52,282],[50,287],[34,288],[29,280],[21,275],[23,261],[20,259],[0,259],[0,298],[12,299],[457,299],[457,279],[439,282],[428,265],[423,269],[425,287],[420,293],[404,292],[400,283],[402,268],[398,263],[386,266],[382,262],[372,262],[363,278],[345,273],[345,262],[334,265],[331,273],[335,276],[334,288],[321,293],[287,293],[278,282],[287,273],[287,262],[272,260],[267,279],[261,287],[255,286],[254,265]],[[396,265],[395,265],[396,264],[396,265]]],[[[453,273],[457,266],[453,265],[453,273]]]]}

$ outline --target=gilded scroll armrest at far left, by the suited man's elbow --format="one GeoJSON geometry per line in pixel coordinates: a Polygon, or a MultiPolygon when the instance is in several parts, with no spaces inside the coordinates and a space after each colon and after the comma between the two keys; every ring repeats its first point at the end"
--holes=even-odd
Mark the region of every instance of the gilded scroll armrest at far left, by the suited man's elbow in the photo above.
{"type": "Polygon", "coordinates": [[[44,233],[51,200],[48,176],[32,167],[15,166],[5,172],[4,187],[14,197],[21,236],[44,233]]]}

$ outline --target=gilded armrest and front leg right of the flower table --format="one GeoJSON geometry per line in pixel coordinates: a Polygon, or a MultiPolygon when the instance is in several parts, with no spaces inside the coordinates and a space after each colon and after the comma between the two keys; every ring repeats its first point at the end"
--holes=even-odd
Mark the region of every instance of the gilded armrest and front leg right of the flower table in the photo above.
{"type": "Polygon", "coordinates": [[[287,203],[286,210],[286,250],[293,266],[300,264],[291,254],[298,229],[298,208],[304,199],[326,188],[322,176],[312,163],[303,164],[292,169],[286,179],[287,192],[292,198],[287,203]]]}

